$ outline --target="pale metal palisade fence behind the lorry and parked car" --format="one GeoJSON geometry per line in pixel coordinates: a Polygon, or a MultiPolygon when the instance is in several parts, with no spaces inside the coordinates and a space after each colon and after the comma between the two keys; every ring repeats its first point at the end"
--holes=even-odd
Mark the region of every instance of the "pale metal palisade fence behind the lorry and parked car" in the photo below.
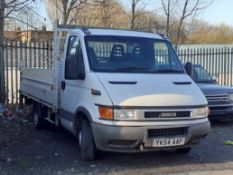
{"type": "MultiPolygon", "coordinates": [[[[19,80],[22,68],[52,68],[52,44],[23,44],[4,41],[4,76],[6,103],[19,102],[19,80]]],[[[233,45],[221,47],[181,47],[177,51],[183,63],[201,64],[222,85],[233,86],[233,45]]]]}

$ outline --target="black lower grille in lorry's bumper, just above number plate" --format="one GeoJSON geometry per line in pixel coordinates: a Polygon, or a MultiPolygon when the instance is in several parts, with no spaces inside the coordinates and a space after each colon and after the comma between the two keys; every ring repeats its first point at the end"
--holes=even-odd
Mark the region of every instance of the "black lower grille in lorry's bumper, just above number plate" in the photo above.
{"type": "Polygon", "coordinates": [[[149,129],[148,138],[181,136],[181,135],[185,135],[187,131],[188,131],[188,128],[149,129]]]}

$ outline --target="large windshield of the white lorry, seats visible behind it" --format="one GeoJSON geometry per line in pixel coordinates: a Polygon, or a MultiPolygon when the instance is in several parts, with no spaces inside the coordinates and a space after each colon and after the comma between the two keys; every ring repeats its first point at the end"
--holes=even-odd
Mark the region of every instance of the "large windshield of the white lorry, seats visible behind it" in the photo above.
{"type": "Polygon", "coordinates": [[[90,68],[95,72],[184,73],[165,40],[121,36],[86,36],[90,68]]]}

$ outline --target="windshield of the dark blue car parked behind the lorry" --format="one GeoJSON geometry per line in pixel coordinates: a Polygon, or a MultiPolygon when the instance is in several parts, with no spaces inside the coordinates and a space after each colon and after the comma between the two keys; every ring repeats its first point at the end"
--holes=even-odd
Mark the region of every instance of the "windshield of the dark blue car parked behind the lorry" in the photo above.
{"type": "Polygon", "coordinates": [[[200,65],[195,65],[193,69],[193,80],[196,83],[213,83],[211,75],[200,65]]]}

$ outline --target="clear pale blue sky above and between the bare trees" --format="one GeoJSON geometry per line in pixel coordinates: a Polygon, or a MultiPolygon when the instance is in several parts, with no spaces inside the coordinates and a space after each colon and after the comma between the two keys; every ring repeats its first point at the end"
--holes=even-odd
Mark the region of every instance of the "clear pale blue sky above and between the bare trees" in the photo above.
{"type": "MultiPolygon", "coordinates": [[[[123,5],[128,6],[128,0],[121,0],[121,2],[123,5]]],[[[152,1],[148,0],[148,2],[152,1]]],[[[38,2],[37,5],[39,6],[38,10],[41,16],[48,19],[43,1],[38,2]]],[[[151,5],[149,4],[149,6],[151,5]]],[[[210,24],[225,23],[233,27],[233,0],[214,0],[214,2],[207,9],[198,14],[197,18],[205,20],[210,24]]],[[[49,22],[49,19],[47,22],[49,22]]],[[[49,28],[51,28],[51,26],[52,24],[49,28]]]]}

